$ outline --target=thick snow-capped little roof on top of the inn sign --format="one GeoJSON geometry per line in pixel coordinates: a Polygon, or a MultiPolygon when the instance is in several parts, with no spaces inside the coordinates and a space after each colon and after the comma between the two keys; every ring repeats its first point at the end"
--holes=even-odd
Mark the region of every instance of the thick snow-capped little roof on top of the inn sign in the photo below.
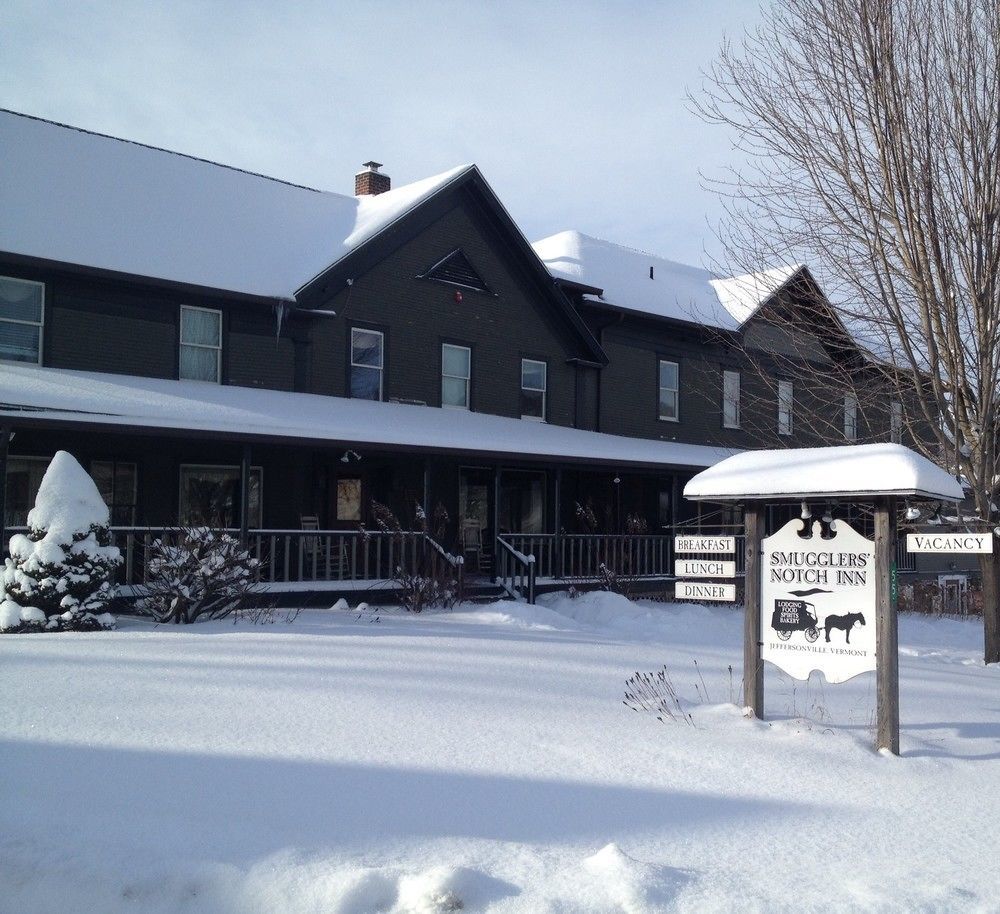
{"type": "Polygon", "coordinates": [[[961,501],[953,476],[901,444],[745,451],[699,473],[684,487],[693,501],[865,498],[910,495],[961,501]]]}

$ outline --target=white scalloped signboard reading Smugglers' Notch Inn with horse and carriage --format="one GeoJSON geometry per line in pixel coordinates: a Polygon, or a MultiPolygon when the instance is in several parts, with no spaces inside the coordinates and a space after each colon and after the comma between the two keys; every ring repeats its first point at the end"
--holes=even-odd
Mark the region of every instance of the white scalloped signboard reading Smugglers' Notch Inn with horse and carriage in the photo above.
{"type": "Polygon", "coordinates": [[[842,520],[829,539],[805,526],[761,543],[761,658],[793,679],[845,682],[876,668],[875,543],[842,520]]]}

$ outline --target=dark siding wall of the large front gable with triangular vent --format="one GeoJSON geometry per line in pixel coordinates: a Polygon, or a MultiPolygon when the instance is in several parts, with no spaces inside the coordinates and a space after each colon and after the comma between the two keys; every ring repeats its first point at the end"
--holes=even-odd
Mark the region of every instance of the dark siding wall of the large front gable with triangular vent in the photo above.
{"type": "Polygon", "coordinates": [[[551,306],[539,301],[489,230],[464,206],[355,278],[324,307],[338,316],[312,319],[309,389],[314,393],[346,396],[349,328],[369,326],[386,333],[385,399],[438,406],[441,344],[455,342],[472,348],[474,410],[520,416],[521,358],[538,358],[548,363],[548,421],[574,423],[576,369],[566,362],[581,353],[563,329],[564,318],[549,313],[551,306]],[[495,295],[417,278],[455,248],[462,249],[495,295]]]}

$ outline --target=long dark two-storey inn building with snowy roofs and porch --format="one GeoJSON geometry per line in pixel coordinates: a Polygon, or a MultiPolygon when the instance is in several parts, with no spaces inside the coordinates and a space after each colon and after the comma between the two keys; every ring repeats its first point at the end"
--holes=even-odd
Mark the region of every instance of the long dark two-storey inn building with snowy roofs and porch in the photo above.
{"type": "Polygon", "coordinates": [[[474,165],[393,189],[368,162],[347,196],[14,112],[0,148],[7,530],[62,448],[136,554],[151,529],[241,530],[276,588],[378,586],[407,548],[513,592],[530,556],[585,580],[609,549],[662,580],[676,527],[737,520],[682,503],[698,470],[902,433],[787,358],[751,370],[782,345],[769,310],[816,293],[804,267],[532,245],[474,165]],[[449,522],[365,538],[373,502],[449,522]]]}

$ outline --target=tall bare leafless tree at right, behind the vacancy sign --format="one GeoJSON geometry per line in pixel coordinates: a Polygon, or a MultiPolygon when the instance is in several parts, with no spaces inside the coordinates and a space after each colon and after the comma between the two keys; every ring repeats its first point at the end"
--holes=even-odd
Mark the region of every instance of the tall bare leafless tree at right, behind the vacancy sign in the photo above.
{"type": "MultiPolygon", "coordinates": [[[[842,392],[863,421],[881,410],[905,426],[971,491],[969,526],[994,529],[1000,5],[775,0],[693,101],[747,160],[718,184],[730,266],[808,264],[833,303],[814,298],[812,329],[829,342],[839,324],[867,351],[833,360],[842,392]]],[[[803,338],[793,319],[768,320],[803,338]]],[[[987,663],[1000,662],[998,553],[981,557],[987,663]]]]}

